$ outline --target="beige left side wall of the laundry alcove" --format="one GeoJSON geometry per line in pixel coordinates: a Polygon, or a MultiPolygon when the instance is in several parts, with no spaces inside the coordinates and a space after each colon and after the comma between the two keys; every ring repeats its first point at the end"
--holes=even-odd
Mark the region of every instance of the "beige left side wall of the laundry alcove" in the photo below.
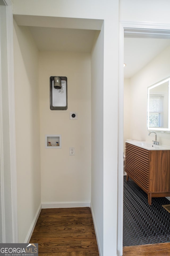
{"type": "Polygon", "coordinates": [[[41,203],[38,50],[29,30],[14,21],[14,93],[19,242],[41,203]]]}

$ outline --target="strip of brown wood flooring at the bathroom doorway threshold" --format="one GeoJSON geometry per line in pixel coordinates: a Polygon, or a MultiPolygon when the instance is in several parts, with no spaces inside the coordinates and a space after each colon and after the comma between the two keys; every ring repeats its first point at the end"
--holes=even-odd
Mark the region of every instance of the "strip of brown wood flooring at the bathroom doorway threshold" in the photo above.
{"type": "Polygon", "coordinates": [[[125,246],[123,256],[170,256],[170,243],[125,246]]]}

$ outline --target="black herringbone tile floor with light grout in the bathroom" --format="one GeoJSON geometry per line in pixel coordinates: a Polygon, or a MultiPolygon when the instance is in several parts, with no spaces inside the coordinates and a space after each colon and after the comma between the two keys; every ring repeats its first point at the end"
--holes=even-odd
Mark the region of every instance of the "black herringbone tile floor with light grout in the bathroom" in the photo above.
{"type": "Polygon", "coordinates": [[[123,246],[170,242],[170,213],[162,205],[165,197],[152,198],[130,178],[124,176],[123,246]]]}

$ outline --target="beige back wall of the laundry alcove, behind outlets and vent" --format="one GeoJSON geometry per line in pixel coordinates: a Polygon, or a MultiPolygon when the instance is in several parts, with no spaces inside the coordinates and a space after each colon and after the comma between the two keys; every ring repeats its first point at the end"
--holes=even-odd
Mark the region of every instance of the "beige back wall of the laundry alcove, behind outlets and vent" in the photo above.
{"type": "Polygon", "coordinates": [[[90,54],[39,53],[41,201],[86,202],[91,195],[90,54]],[[49,78],[66,76],[68,109],[50,110],[49,78]],[[70,120],[70,111],[78,120],[70,120]],[[45,149],[45,134],[61,134],[61,149],[45,149]],[[69,147],[75,155],[69,155],[69,147]]]}

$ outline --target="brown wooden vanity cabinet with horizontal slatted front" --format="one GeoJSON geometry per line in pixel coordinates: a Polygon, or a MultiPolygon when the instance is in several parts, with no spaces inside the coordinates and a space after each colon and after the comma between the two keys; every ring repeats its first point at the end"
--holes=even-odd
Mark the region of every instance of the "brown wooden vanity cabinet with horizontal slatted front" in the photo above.
{"type": "Polygon", "coordinates": [[[152,197],[170,196],[170,150],[147,150],[125,143],[125,171],[129,177],[152,197]]]}

